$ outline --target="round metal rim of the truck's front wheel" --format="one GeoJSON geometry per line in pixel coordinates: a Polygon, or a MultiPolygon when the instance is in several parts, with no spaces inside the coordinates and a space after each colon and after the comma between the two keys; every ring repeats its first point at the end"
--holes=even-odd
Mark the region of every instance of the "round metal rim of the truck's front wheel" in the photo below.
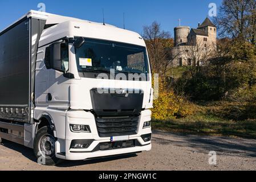
{"type": "Polygon", "coordinates": [[[39,151],[45,157],[55,154],[55,138],[52,135],[43,135],[39,140],[39,151]]]}

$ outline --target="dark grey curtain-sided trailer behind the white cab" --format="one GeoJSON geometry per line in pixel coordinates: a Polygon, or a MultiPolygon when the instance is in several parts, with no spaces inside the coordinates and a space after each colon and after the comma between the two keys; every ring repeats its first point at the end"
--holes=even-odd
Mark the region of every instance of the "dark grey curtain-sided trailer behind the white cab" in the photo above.
{"type": "Polygon", "coordinates": [[[24,143],[33,123],[35,61],[46,20],[30,14],[0,32],[0,138],[24,143]]]}

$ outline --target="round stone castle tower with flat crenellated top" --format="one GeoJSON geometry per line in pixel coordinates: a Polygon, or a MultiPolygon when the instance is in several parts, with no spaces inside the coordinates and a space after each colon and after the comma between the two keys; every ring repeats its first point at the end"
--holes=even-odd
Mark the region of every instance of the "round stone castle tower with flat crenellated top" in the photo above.
{"type": "Polygon", "coordinates": [[[188,42],[190,27],[178,26],[174,28],[174,46],[188,42]]]}

